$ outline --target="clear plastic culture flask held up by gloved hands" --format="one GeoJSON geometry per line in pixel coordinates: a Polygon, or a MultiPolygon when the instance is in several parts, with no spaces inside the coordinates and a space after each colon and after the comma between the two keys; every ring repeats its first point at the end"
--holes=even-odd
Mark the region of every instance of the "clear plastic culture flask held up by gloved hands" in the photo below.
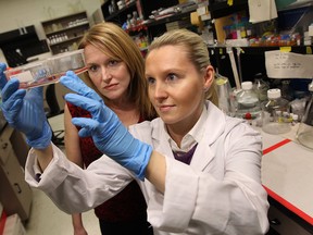
{"type": "Polygon", "coordinates": [[[20,88],[32,88],[58,83],[66,71],[80,74],[87,71],[84,50],[76,50],[52,55],[46,60],[32,62],[4,71],[7,79],[17,78],[20,88]]]}

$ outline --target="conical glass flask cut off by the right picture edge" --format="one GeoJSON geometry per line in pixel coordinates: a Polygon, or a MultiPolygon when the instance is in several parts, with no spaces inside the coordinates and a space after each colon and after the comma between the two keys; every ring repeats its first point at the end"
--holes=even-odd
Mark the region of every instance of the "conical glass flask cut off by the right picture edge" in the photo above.
{"type": "Polygon", "coordinates": [[[313,149],[313,81],[309,84],[309,91],[310,98],[296,138],[301,145],[313,149]]]}

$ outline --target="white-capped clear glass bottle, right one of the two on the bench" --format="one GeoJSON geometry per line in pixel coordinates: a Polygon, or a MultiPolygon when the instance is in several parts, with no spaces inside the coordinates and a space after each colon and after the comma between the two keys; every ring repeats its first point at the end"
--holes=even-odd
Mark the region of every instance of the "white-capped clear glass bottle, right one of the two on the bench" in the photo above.
{"type": "Polygon", "coordinates": [[[290,106],[281,98],[279,88],[267,90],[267,101],[262,103],[262,129],[265,133],[278,135],[291,129],[290,106]]]}

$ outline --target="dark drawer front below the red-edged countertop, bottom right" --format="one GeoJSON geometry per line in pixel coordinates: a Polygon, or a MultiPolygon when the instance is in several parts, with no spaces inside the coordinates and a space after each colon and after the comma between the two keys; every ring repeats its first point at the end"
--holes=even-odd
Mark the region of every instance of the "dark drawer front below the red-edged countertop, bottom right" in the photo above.
{"type": "Polygon", "coordinates": [[[302,227],[299,223],[287,217],[276,207],[271,206],[268,210],[268,220],[271,228],[280,235],[297,234],[297,235],[312,235],[308,230],[302,227]]]}

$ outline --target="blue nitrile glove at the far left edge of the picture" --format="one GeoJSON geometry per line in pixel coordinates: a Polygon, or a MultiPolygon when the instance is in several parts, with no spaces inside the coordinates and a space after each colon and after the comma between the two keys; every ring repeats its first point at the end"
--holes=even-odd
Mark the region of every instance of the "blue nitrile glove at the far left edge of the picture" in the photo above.
{"type": "Polygon", "coordinates": [[[2,113],[8,123],[26,136],[26,143],[45,149],[50,145],[52,132],[43,111],[42,87],[28,91],[18,89],[20,82],[10,79],[2,89],[2,113]]]}

